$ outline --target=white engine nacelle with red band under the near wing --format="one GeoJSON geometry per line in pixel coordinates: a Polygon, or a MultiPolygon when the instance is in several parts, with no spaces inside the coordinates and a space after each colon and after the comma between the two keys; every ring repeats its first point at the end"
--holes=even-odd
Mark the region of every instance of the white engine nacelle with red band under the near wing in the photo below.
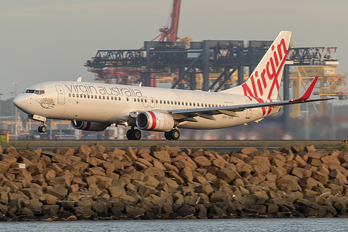
{"type": "Polygon", "coordinates": [[[142,111],[137,115],[137,127],[140,130],[169,131],[175,125],[174,118],[158,111],[142,111]]]}

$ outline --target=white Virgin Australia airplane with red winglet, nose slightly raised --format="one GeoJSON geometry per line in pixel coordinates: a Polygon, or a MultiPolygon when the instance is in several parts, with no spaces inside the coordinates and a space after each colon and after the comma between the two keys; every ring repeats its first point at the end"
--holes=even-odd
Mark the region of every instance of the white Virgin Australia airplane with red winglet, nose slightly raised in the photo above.
{"type": "Polygon", "coordinates": [[[76,82],[34,84],[13,104],[41,122],[39,132],[47,131],[45,121],[52,118],[69,120],[78,130],[130,126],[126,132],[130,140],[141,139],[141,130],[165,132],[166,139],[177,140],[178,128],[209,130],[258,123],[278,113],[282,105],[333,99],[309,99],[316,77],[301,98],[277,100],[291,37],[291,31],[280,31],[249,79],[220,92],[100,84],[79,77],[76,82]]]}

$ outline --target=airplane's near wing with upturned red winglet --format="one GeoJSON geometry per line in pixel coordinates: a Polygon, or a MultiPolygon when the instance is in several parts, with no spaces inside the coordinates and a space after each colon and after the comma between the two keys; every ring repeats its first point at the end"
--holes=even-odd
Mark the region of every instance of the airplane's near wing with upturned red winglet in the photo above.
{"type": "Polygon", "coordinates": [[[324,99],[309,100],[310,95],[313,91],[313,88],[315,87],[315,83],[317,82],[317,79],[318,77],[315,77],[315,79],[307,88],[307,90],[302,95],[302,97],[295,100],[262,102],[262,103],[253,103],[253,104],[245,104],[245,105],[231,105],[231,106],[225,106],[225,107],[174,109],[169,111],[169,113],[172,114],[174,118],[175,118],[175,115],[185,116],[187,118],[186,121],[195,121],[195,118],[193,118],[195,116],[201,116],[202,118],[215,120],[213,115],[216,115],[216,114],[227,114],[229,116],[238,117],[238,114],[236,114],[236,112],[244,111],[245,109],[260,108],[260,107],[277,107],[282,105],[293,105],[293,104],[300,104],[300,103],[306,103],[306,102],[317,102],[322,100],[335,99],[335,98],[324,98],[324,99]]]}

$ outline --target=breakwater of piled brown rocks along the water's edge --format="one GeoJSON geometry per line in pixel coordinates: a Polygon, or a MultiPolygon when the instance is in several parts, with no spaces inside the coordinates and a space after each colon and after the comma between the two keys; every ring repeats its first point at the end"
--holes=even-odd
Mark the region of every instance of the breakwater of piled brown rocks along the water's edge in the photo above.
{"type": "Polygon", "coordinates": [[[1,221],[347,215],[348,153],[339,150],[92,144],[0,154],[1,221]]]}

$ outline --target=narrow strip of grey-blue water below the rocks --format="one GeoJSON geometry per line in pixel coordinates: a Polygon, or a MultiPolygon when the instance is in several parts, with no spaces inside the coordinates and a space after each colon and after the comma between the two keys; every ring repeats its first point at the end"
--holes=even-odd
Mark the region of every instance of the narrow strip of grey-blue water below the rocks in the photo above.
{"type": "Polygon", "coordinates": [[[348,231],[348,218],[1,222],[0,231],[348,231]]]}

